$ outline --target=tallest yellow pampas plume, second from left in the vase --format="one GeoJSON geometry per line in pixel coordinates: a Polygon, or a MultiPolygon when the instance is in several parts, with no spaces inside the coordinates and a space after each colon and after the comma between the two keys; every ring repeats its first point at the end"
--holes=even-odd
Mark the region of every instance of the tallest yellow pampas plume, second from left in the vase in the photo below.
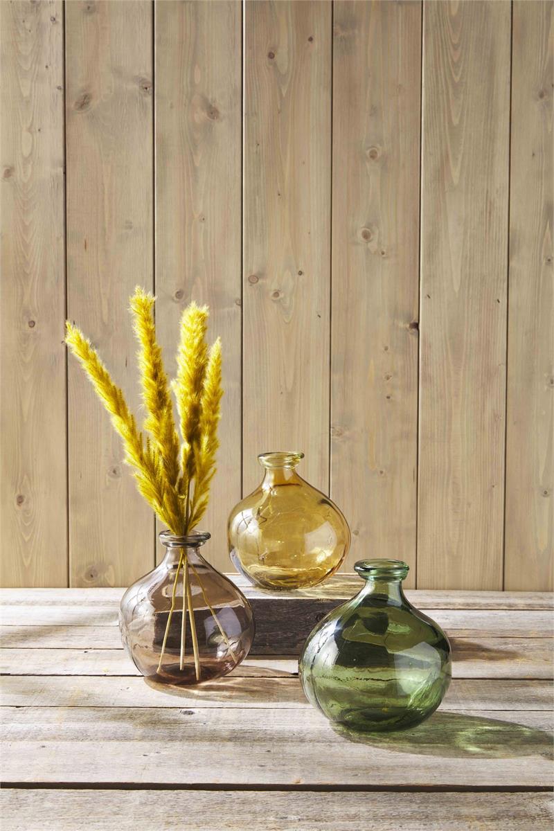
{"type": "MultiPolygon", "coordinates": [[[[169,393],[169,382],[164,370],[162,351],[156,341],[154,323],[154,297],[137,286],[130,298],[130,310],[133,313],[133,328],[140,343],[139,368],[142,381],[142,399],[145,404],[145,430],[150,432],[154,441],[154,453],[164,468],[166,479],[166,502],[175,519],[175,524],[182,526],[179,514],[182,514],[178,485],[179,436],[175,430],[173,403],[169,393]]],[[[180,533],[183,533],[181,528],[180,533]]]]}

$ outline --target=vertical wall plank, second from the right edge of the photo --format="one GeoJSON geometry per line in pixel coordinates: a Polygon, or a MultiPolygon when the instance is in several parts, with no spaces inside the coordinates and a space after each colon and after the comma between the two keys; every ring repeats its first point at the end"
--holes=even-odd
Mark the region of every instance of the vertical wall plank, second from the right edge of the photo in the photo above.
{"type": "Polygon", "coordinates": [[[419,588],[503,585],[510,12],[424,3],[419,588]]]}

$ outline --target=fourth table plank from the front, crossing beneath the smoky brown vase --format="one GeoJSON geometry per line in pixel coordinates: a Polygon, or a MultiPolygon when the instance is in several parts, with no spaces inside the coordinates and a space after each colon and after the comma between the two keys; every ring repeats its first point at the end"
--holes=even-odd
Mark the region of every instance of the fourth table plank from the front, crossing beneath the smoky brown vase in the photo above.
{"type": "MultiPolygon", "coordinates": [[[[17,627],[12,627],[17,628],[17,627]]],[[[552,678],[552,640],[542,637],[453,638],[454,678],[552,678]]],[[[233,676],[272,676],[298,671],[296,656],[248,658],[233,676]]],[[[4,648],[0,649],[0,671],[22,676],[139,676],[130,657],[120,649],[4,648]]]]}

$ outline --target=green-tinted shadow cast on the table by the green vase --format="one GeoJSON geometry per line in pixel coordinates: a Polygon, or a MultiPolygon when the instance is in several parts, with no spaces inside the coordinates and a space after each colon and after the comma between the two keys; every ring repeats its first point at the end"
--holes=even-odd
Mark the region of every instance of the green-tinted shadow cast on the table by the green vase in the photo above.
{"type": "Polygon", "coordinates": [[[541,755],[552,759],[552,735],[510,721],[439,712],[428,721],[395,733],[356,733],[333,725],[338,735],[383,750],[462,758],[511,759],[541,755]]]}

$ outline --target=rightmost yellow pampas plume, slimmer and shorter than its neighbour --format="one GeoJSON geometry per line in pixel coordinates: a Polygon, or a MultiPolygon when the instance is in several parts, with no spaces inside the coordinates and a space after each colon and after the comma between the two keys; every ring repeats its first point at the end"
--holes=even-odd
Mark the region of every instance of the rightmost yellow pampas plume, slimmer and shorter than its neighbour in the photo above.
{"type": "Polygon", "coordinates": [[[194,498],[190,512],[191,527],[202,519],[208,506],[209,486],[215,474],[218,451],[218,424],[221,418],[221,340],[213,343],[203,384],[199,443],[194,456],[194,498]]]}

